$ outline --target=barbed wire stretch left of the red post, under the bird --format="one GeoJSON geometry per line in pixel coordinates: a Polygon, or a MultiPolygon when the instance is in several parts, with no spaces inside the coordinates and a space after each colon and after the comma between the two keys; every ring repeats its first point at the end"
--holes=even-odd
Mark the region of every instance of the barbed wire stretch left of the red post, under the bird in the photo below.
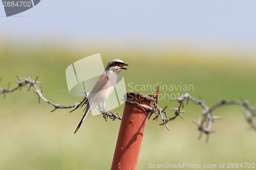
{"type": "MultiPolygon", "coordinates": [[[[11,86],[11,82],[10,82],[7,88],[3,88],[2,89],[0,87],[0,94],[4,94],[4,99],[5,99],[7,93],[13,92],[13,91],[18,90],[18,89],[22,90],[23,87],[28,88],[28,91],[29,91],[31,87],[34,87],[35,88],[34,92],[38,96],[38,102],[40,103],[40,99],[42,99],[43,101],[49,103],[50,105],[52,105],[54,107],[54,109],[51,112],[55,111],[56,109],[69,109],[69,108],[73,108],[73,110],[71,110],[70,113],[75,111],[76,109],[78,109],[79,106],[81,106],[84,103],[84,101],[87,100],[87,96],[89,95],[89,92],[82,91],[82,93],[84,95],[84,98],[83,98],[83,100],[81,102],[79,102],[79,103],[76,102],[75,105],[63,106],[63,104],[54,104],[51,101],[47,100],[42,95],[42,87],[38,88],[37,85],[36,85],[36,84],[42,84],[42,83],[38,82],[37,79],[38,79],[38,76],[36,77],[35,80],[31,80],[29,76],[28,76],[28,78],[25,78],[25,79],[22,79],[22,78],[19,78],[18,76],[16,76],[15,81],[17,83],[17,87],[15,87],[13,89],[10,89],[10,86],[11,86]],[[28,85],[29,85],[29,87],[28,87],[28,85]]],[[[2,78],[0,78],[0,83],[1,83],[1,80],[2,80],[2,78]]],[[[103,115],[103,118],[105,120],[107,118],[113,119],[113,121],[115,119],[119,119],[119,120],[122,119],[118,113],[117,113],[117,115],[115,113],[112,113],[111,111],[107,111],[107,112],[104,113],[103,108],[101,106],[98,106],[96,108],[100,111],[100,113],[103,115]]]]}

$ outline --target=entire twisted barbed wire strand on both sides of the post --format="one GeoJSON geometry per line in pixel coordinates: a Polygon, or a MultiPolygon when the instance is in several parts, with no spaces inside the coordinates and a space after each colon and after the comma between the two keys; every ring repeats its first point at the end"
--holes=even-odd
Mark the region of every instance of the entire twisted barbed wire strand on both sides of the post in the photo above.
{"type": "MultiPolygon", "coordinates": [[[[40,89],[39,89],[36,86],[36,84],[42,84],[42,83],[38,82],[37,79],[38,79],[38,76],[36,77],[35,80],[31,80],[30,77],[20,79],[18,76],[16,76],[15,81],[17,83],[17,87],[15,87],[13,89],[10,89],[11,83],[9,83],[7,88],[3,88],[2,89],[0,87],[0,94],[4,94],[4,99],[5,99],[7,93],[13,92],[13,91],[18,90],[18,89],[22,90],[22,88],[23,87],[27,87],[27,85],[29,85],[29,87],[27,87],[28,91],[29,91],[30,88],[33,86],[35,88],[34,92],[38,96],[39,103],[40,103],[40,99],[42,99],[45,102],[47,102],[47,103],[51,104],[52,106],[54,106],[54,109],[51,112],[55,111],[56,109],[69,109],[69,108],[73,108],[73,110],[71,110],[70,113],[75,111],[80,106],[82,107],[83,103],[87,100],[87,96],[89,95],[88,92],[82,91],[82,93],[84,95],[84,98],[83,98],[83,100],[81,102],[79,102],[79,103],[76,102],[75,105],[63,106],[63,104],[54,104],[54,103],[48,101],[42,95],[42,87],[40,87],[40,89]]],[[[1,83],[1,80],[2,79],[0,78],[0,83],[1,83]]],[[[156,119],[156,121],[158,122],[158,118],[160,117],[161,120],[162,120],[162,123],[159,124],[159,125],[165,125],[165,127],[168,130],[169,130],[169,128],[167,126],[167,123],[170,120],[174,120],[177,116],[180,116],[181,118],[183,118],[181,113],[184,113],[185,111],[181,111],[181,108],[184,108],[184,102],[185,101],[187,102],[187,104],[188,104],[189,101],[191,101],[191,102],[193,102],[193,104],[200,105],[203,108],[202,120],[201,120],[200,117],[198,117],[197,120],[193,120],[193,123],[195,125],[197,125],[198,130],[200,131],[200,134],[199,134],[199,137],[198,137],[199,139],[201,139],[203,133],[205,133],[207,135],[206,142],[208,142],[208,140],[209,140],[209,134],[215,132],[215,131],[211,130],[211,127],[212,127],[212,124],[214,123],[214,120],[222,118],[221,116],[214,116],[214,115],[212,115],[212,112],[215,109],[217,109],[217,108],[219,108],[220,106],[223,106],[223,105],[231,105],[231,104],[233,104],[233,105],[240,105],[240,106],[243,107],[243,109],[241,109],[241,111],[244,113],[245,118],[246,118],[248,124],[250,125],[250,128],[256,131],[256,109],[253,106],[251,106],[249,101],[247,101],[247,100],[232,100],[232,101],[229,101],[229,100],[226,100],[226,99],[220,99],[214,106],[209,108],[205,104],[204,100],[201,97],[199,97],[200,99],[198,100],[198,99],[195,99],[193,96],[191,96],[189,93],[185,93],[185,94],[182,94],[181,96],[178,96],[178,98],[176,98],[176,99],[170,100],[170,101],[177,101],[179,103],[179,106],[177,108],[170,108],[170,110],[174,110],[175,111],[174,112],[175,115],[173,117],[168,117],[167,113],[165,111],[167,106],[165,106],[163,109],[158,106],[159,86],[157,86],[156,95],[153,95],[153,97],[156,100],[152,104],[152,107],[141,105],[141,104],[139,104],[137,102],[134,102],[134,101],[124,100],[124,99],[122,99],[122,101],[129,102],[129,103],[132,103],[132,104],[135,104],[135,105],[138,105],[140,107],[143,107],[143,108],[147,109],[150,112],[148,114],[148,117],[147,117],[148,119],[150,119],[150,117],[153,114],[156,114],[156,116],[153,118],[153,120],[156,119]]],[[[87,102],[85,102],[84,104],[87,104],[87,102]]],[[[111,111],[104,112],[104,109],[100,105],[98,105],[96,108],[102,114],[102,116],[105,119],[105,121],[107,121],[107,118],[110,118],[113,121],[115,119],[119,119],[119,120],[122,119],[118,113],[116,115],[115,113],[113,113],[111,111]]]]}

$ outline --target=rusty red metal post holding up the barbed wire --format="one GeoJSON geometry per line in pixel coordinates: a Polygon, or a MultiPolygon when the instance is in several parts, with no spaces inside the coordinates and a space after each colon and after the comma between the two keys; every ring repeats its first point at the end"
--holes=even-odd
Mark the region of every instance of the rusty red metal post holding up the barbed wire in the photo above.
{"type": "MultiPolygon", "coordinates": [[[[127,92],[127,100],[146,106],[155,101],[152,96],[138,92],[127,92]]],[[[145,108],[125,103],[111,170],[136,169],[147,114],[145,108]]]]}

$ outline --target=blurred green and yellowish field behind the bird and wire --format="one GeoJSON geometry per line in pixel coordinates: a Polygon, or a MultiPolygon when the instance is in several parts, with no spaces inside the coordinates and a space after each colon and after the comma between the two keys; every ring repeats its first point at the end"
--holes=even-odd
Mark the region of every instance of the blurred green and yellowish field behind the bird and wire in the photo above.
{"type": "MultiPolygon", "coordinates": [[[[104,46],[104,45],[102,45],[104,46]]],[[[0,43],[1,88],[16,87],[15,76],[42,82],[45,98],[53,103],[74,105],[82,100],[68,92],[65,70],[73,62],[100,53],[104,66],[112,59],[129,64],[122,71],[126,89],[143,85],[193,85],[188,91],[198,98],[202,96],[208,106],[217,99],[247,99],[256,106],[256,59],[241,58],[234,53],[222,51],[190,51],[186,48],[150,52],[143,47],[116,50],[107,48],[84,48],[53,45],[24,45],[0,43]],[[210,56],[210,57],[209,57],[210,56]],[[215,57],[216,56],[216,57],[215,57]],[[131,86],[131,84],[130,84],[131,86]]],[[[255,56],[255,54],[254,54],[255,56]]],[[[40,87],[40,86],[39,86],[40,87]]],[[[160,91],[177,94],[184,90],[160,91]]],[[[167,96],[167,95],[166,95],[167,96]]],[[[160,100],[160,107],[178,106],[176,101],[160,100]]],[[[113,112],[122,114],[124,105],[113,112]]],[[[85,120],[77,134],[73,134],[81,117],[82,109],[69,113],[70,109],[56,110],[41,101],[33,88],[26,88],[4,96],[0,95],[0,169],[110,169],[114,155],[120,121],[105,120],[92,116],[85,120]]],[[[152,164],[219,164],[256,163],[256,133],[248,130],[240,106],[224,106],[213,114],[223,116],[216,120],[208,143],[206,136],[198,140],[199,131],[191,122],[201,116],[202,109],[189,103],[185,106],[184,119],[178,117],[169,122],[168,131],[152,119],[147,121],[140,150],[137,169],[152,164]]],[[[174,112],[168,111],[169,116],[174,112]]],[[[231,167],[231,166],[230,166],[231,167]]],[[[254,166],[256,167],[256,165],[254,166]]],[[[187,169],[184,167],[183,169],[187,169]]],[[[245,169],[245,168],[243,168],[245,169]]]]}

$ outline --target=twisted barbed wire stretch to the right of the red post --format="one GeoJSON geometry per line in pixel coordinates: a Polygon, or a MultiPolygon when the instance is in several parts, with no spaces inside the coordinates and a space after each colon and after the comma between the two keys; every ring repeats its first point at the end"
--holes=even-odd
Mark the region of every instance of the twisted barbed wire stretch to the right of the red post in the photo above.
{"type": "Polygon", "coordinates": [[[135,105],[139,105],[140,107],[147,109],[150,112],[148,113],[148,119],[152,116],[153,113],[156,114],[156,117],[154,117],[153,120],[156,119],[158,121],[158,118],[160,116],[163,123],[159,125],[165,125],[165,127],[168,130],[169,128],[167,126],[167,122],[170,120],[174,120],[177,116],[180,116],[181,118],[183,118],[181,113],[184,113],[185,111],[181,111],[181,108],[184,108],[184,102],[187,101],[186,104],[188,104],[188,101],[192,101],[193,104],[200,105],[203,108],[203,111],[202,111],[203,119],[201,120],[201,118],[198,117],[197,120],[193,120],[193,123],[197,125],[198,130],[200,131],[199,139],[201,139],[201,136],[203,133],[207,135],[206,142],[208,142],[209,140],[209,134],[215,132],[215,131],[211,131],[211,127],[212,127],[212,124],[214,123],[214,120],[222,118],[221,116],[212,115],[212,111],[214,111],[215,109],[217,109],[222,105],[236,104],[244,107],[242,112],[244,113],[245,118],[250,125],[250,128],[256,131],[256,109],[253,106],[251,106],[249,102],[246,100],[228,101],[226,99],[221,99],[214,106],[209,108],[201,97],[198,100],[198,99],[195,99],[193,96],[191,96],[189,93],[185,93],[174,100],[170,100],[170,101],[176,100],[179,103],[179,106],[177,108],[170,108],[170,110],[175,111],[174,112],[175,115],[173,117],[168,117],[165,111],[165,109],[168,106],[165,106],[164,109],[158,106],[158,96],[159,96],[158,94],[159,94],[159,87],[157,87],[157,94],[155,95],[156,101],[155,103],[152,104],[152,107],[144,106],[134,101],[129,101],[129,100],[123,100],[123,101],[129,102],[135,105]]]}

